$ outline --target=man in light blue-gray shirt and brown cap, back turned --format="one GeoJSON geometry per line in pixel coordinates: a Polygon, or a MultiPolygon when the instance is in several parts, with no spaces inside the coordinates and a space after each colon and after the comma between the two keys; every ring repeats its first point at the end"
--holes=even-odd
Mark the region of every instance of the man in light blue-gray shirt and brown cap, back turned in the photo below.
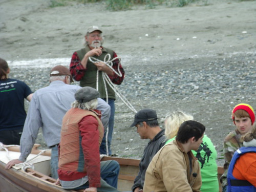
{"type": "MultiPolygon", "coordinates": [[[[37,90],[29,105],[22,137],[20,138],[20,156],[8,162],[6,168],[25,162],[31,153],[37,138],[39,128],[45,142],[51,148],[51,174],[52,178],[58,178],[58,144],[60,142],[60,130],[62,118],[75,101],[75,93],[80,86],[70,85],[73,81],[68,68],[55,66],[50,72],[50,85],[37,90]]],[[[108,126],[110,106],[104,100],[98,98],[97,110],[101,111],[103,126],[108,126]]]]}

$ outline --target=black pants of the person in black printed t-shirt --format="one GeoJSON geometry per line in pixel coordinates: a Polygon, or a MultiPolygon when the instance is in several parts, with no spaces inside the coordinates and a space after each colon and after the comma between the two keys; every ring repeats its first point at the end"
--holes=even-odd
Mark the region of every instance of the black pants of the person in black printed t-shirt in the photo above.
{"type": "Polygon", "coordinates": [[[0,142],[5,145],[19,145],[23,129],[0,131],[0,142]]]}

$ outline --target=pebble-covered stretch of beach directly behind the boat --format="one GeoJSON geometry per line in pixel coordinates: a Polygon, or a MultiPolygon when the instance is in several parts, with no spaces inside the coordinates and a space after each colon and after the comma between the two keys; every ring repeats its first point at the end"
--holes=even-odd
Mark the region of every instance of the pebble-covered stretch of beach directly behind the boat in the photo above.
{"type": "MultiPolygon", "coordinates": [[[[224,57],[180,60],[151,59],[125,66],[125,79],[118,90],[139,111],[151,108],[157,111],[160,125],[168,112],[181,110],[194,116],[206,126],[218,152],[218,164],[223,164],[223,139],[234,129],[231,110],[245,102],[256,109],[256,54],[244,53],[224,57]],[[164,64],[163,64],[164,63],[164,64]]],[[[49,84],[51,67],[30,67],[20,73],[20,66],[11,65],[10,77],[24,80],[33,91],[49,84]]],[[[78,82],[75,82],[78,84],[78,82]]],[[[26,102],[26,108],[29,103],[26,102]]],[[[136,128],[130,125],[134,118],[120,98],[116,100],[115,130],[112,153],[119,157],[139,159],[148,140],[141,140],[136,128]]],[[[45,147],[41,134],[37,143],[45,147]]]]}

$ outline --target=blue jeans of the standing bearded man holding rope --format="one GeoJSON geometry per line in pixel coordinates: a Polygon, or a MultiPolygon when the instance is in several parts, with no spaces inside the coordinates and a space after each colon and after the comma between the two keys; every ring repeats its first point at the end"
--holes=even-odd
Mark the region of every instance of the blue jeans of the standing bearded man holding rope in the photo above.
{"type": "MultiPolygon", "coordinates": [[[[104,99],[106,100],[106,99],[104,99]]],[[[110,105],[110,120],[109,120],[109,133],[108,133],[108,150],[109,154],[106,153],[106,130],[104,133],[104,137],[102,139],[100,148],[99,148],[99,153],[100,154],[106,154],[106,155],[111,155],[111,141],[112,141],[112,134],[113,134],[113,129],[114,129],[114,119],[115,119],[115,99],[109,99],[109,105],[110,105]]]]}

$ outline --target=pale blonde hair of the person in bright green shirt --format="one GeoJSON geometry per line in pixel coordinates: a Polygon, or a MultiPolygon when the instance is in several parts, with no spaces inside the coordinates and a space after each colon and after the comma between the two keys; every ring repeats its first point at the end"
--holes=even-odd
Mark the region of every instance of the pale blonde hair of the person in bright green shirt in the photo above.
{"type": "Polygon", "coordinates": [[[175,137],[179,131],[180,125],[184,121],[194,120],[192,115],[183,113],[182,111],[175,111],[169,113],[164,119],[165,137],[166,139],[172,139],[175,137]]]}

